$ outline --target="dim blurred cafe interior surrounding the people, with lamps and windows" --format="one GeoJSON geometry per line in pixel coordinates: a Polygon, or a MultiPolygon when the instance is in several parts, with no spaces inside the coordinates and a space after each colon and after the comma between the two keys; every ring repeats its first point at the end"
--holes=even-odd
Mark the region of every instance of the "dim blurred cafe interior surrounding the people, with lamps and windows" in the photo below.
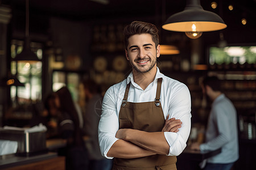
{"type": "MultiPolygon", "coordinates": [[[[67,141],[50,138],[32,120],[62,87],[84,114],[84,80],[93,79],[102,95],[124,80],[131,67],[123,28],[134,20],[156,25],[160,72],[189,89],[187,145],[204,142],[210,103],[200,80],[217,76],[237,110],[239,159],[232,169],[256,169],[255,0],[0,0],[0,141],[18,141],[18,151],[1,153],[0,169],[68,169],[59,152],[67,141]]],[[[177,156],[177,169],[200,169],[220,152],[187,147],[177,156]]]]}

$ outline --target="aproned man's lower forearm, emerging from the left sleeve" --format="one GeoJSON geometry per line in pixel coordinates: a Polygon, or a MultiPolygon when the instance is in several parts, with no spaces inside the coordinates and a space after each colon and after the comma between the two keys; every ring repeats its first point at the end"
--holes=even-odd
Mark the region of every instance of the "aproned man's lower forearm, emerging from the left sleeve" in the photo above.
{"type": "Polygon", "coordinates": [[[141,158],[143,156],[155,155],[154,152],[148,151],[140,146],[135,145],[129,141],[122,139],[117,140],[110,150],[107,156],[115,158],[141,158]]]}

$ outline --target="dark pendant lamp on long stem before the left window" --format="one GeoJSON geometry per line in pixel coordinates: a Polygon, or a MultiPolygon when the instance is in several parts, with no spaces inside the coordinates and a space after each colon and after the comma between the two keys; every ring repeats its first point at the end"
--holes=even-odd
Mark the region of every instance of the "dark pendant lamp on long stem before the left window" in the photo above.
{"type": "Polygon", "coordinates": [[[19,62],[37,62],[40,59],[36,56],[35,53],[31,51],[30,48],[30,37],[29,37],[29,2],[26,0],[26,37],[24,40],[23,50],[21,53],[17,54],[13,59],[14,61],[19,62]]]}

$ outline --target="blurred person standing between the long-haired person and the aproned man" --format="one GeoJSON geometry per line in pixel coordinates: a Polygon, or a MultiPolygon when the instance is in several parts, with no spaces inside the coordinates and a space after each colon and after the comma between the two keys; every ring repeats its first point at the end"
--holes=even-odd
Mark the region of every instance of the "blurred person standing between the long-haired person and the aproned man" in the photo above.
{"type": "Polygon", "coordinates": [[[83,83],[85,93],[85,134],[89,137],[86,146],[89,152],[89,169],[110,170],[112,160],[104,158],[100,152],[98,143],[98,122],[101,117],[102,95],[101,89],[92,79],[85,80],[83,83]]]}

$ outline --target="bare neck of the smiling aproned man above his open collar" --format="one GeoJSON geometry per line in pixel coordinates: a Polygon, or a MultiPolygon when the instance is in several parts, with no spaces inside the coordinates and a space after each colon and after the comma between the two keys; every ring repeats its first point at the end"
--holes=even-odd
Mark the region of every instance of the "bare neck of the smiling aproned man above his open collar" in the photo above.
{"type": "Polygon", "coordinates": [[[156,67],[153,67],[150,71],[146,73],[139,73],[138,71],[133,69],[134,82],[138,84],[143,90],[145,90],[147,86],[154,81],[155,75],[156,67]]]}

